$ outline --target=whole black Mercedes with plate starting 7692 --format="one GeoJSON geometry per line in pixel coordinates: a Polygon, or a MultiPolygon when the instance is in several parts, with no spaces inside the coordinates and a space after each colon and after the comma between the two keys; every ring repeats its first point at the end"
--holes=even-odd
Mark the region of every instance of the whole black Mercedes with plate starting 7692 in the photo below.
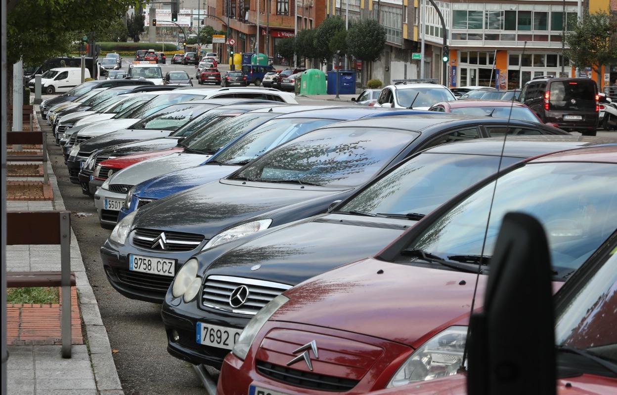
{"type": "MultiPolygon", "coordinates": [[[[511,137],[502,166],[589,144],[575,136],[511,137]]],[[[424,150],[377,177],[329,213],[223,242],[194,256],[197,275],[204,279],[200,297],[184,301],[183,295],[177,294],[179,285],[167,291],[162,306],[167,350],[193,364],[218,367],[234,341],[197,342],[198,326],[217,325],[225,338],[230,335],[232,339],[282,291],[334,267],[375,255],[425,214],[495,173],[502,147],[503,139],[494,137],[424,150]],[[243,286],[249,290],[248,297],[236,304],[231,293],[243,286]]],[[[176,279],[182,280],[181,276],[176,279]]]]}

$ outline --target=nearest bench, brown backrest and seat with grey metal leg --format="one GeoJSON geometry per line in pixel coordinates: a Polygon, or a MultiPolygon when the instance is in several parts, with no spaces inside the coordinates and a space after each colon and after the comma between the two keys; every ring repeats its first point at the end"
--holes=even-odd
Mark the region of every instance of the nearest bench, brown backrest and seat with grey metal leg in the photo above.
{"type": "Polygon", "coordinates": [[[60,272],[7,272],[7,287],[62,287],[62,357],[71,357],[71,272],[69,211],[9,211],[6,244],[60,245],[60,272]]]}

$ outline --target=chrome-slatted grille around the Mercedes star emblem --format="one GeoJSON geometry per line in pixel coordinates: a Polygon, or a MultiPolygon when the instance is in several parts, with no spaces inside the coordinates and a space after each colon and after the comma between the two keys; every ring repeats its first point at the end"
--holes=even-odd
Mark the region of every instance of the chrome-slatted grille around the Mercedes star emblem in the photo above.
{"type": "Polygon", "coordinates": [[[219,310],[254,315],[269,301],[281,295],[283,291],[289,288],[291,288],[291,285],[270,281],[231,277],[228,275],[210,275],[205,280],[202,290],[202,304],[219,310]],[[239,287],[246,287],[248,289],[246,301],[239,305],[234,303],[232,306],[230,301],[231,293],[239,287]]]}

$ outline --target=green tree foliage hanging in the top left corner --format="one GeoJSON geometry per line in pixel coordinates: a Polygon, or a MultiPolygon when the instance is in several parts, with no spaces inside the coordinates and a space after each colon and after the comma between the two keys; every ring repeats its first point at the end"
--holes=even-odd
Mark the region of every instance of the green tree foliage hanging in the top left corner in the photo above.
{"type": "Polygon", "coordinates": [[[68,53],[72,41],[126,13],[135,0],[9,2],[7,61],[35,65],[68,53]]]}

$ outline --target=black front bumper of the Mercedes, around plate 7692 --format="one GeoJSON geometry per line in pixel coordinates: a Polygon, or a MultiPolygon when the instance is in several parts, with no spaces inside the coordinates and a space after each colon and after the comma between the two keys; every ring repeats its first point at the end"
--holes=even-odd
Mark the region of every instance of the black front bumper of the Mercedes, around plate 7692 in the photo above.
{"type": "Polygon", "coordinates": [[[191,364],[204,364],[220,369],[223,358],[231,350],[197,343],[197,322],[242,329],[252,316],[238,317],[201,309],[197,306],[201,300],[201,293],[189,303],[184,303],[181,298],[173,298],[172,291],[168,290],[161,307],[161,316],[167,333],[167,351],[172,356],[191,364]]]}

